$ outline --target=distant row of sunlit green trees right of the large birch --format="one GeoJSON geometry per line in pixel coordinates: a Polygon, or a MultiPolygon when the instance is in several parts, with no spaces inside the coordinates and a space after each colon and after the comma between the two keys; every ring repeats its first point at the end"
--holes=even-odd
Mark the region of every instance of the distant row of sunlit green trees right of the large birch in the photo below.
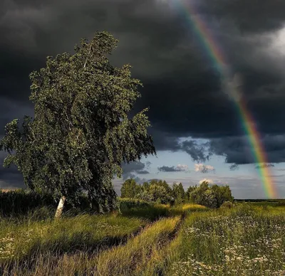
{"type": "Polygon", "coordinates": [[[137,184],[135,179],[128,179],[121,188],[122,198],[138,198],[155,203],[183,203],[192,202],[207,206],[209,208],[219,208],[225,201],[233,201],[232,191],[229,186],[209,185],[207,181],[199,186],[190,186],[187,191],[182,184],[172,184],[166,181],[152,180],[137,184]]]}

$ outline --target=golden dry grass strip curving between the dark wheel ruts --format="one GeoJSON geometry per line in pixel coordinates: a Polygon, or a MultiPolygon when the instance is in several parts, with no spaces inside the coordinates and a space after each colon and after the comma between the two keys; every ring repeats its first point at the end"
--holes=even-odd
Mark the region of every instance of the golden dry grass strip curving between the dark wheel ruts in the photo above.
{"type": "Polygon", "coordinates": [[[15,260],[10,270],[4,267],[2,275],[142,275],[149,260],[170,241],[179,221],[179,217],[162,218],[125,245],[99,253],[58,255],[47,251],[39,254],[32,266],[15,260]]]}

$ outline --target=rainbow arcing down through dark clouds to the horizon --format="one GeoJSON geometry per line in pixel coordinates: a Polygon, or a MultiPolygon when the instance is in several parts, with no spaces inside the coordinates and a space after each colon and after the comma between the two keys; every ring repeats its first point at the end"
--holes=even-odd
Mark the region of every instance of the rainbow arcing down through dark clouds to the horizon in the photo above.
{"type": "MultiPolygon", "coordinates": [[[[219,43],[214,41],[214,37],[211,35],[206,23],[202,21],[202,18],[199,17],[197,12],[195,13],[195,7],[191,4],[191,1],[186,3],[183,0],[173,0],[170,1],[170,4],[174,4],[176,9],[179,9],[183,14],[185,14],[185,18],[187,18],[187,21],[190,23],[193,31],[195,31],[204,51],[209,55],[209,58],[211,58],[212,63],[222,76],[222,79],[225,82],[230,80],[230,66],[227,63],[222,50],[219,48],[219,43]]],[[[254,124],[253,117],[247,110],[246,102],[242,97],[240,97],[242,95],[241,91],[239,91],[240,87],[229,87],[229,89],[232,89],[232,91],[227,91],[227,93],[232,93],[235,106],[237,107],[237,112],[242,122],[242,127],[245,134],[247,134],[249,144],[252,149],[254,160],[257,164],[268,163],[266,152],[261,144],[261,137],[254,124]]],[[[257,169],[259,171],[259,177],[266,197],[276,198],[276,187],[271,177],[269,167],[258,166],[257,169]]]]}

